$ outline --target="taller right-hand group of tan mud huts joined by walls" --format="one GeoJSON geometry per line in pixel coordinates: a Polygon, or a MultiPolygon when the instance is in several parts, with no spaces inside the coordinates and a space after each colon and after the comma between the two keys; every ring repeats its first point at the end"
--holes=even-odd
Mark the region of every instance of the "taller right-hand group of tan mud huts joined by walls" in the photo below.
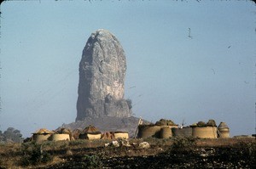
{"type": "Polygon", "coordinates": [[[188,127],[178,126],[171,120],[161,119],[155,124],[139,125],[137,138],[170,138],[194,137],[194,138],[230,138],[230,128],[225,122],[216,125],[214,120],[199,121],[188,127]]]}

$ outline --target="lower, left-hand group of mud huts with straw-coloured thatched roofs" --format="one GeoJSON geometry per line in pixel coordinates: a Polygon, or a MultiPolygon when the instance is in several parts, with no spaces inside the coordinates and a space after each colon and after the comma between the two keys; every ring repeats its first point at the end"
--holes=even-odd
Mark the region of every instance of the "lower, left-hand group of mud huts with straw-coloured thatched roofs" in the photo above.
{"type": "Polygon", "coordinates": [[[113,139],[129,138],[128,132],[100,132],[96,127],[88,126],[73,131],[67,128],[60,128],[55,131],[49,131],[45,128],[32,133],[32,140],[39,143],[43,141],[60,141],[75,139],[113,139]]]}

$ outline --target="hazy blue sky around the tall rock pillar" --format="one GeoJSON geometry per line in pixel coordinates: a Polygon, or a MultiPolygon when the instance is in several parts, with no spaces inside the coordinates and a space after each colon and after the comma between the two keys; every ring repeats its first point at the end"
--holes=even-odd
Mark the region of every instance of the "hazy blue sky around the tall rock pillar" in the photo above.
{"type": "Polygon", "coordinates": [[[251,1],[8,1],[1,12],[2,131],[27,137],[75,120],[79,61],[101,28],[125,49],[125,98],[136,116],[255,131],[251,1]]]}

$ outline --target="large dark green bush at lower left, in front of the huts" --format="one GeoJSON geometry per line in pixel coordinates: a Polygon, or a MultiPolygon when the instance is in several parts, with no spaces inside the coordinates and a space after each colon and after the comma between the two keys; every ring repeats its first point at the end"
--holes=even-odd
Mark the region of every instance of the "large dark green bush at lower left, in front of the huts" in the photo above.
{"type": "Polygon", "coordinates": [[[41,144],[34,142],[21,145],[21,166],[38,165],[40,163],[47,163],[53,160],[52,155],[43,151],[41,144]]]}

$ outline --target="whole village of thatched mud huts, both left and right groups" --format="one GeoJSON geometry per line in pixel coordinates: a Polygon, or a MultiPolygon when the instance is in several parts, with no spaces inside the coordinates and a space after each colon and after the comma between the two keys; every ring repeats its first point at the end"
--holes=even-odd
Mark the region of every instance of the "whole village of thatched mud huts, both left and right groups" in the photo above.
{"type": "MultiPolygon", "coordinates": [[[[96,127],[88,126],[73,131],[67,128],[60,128],[49,131],[45,128],[32,133],[32,140],[59,141],[75,139],[116,139],[129,138],[128,132],[100,132],[96,127]]],[[[161,119],[155,124],[144,125],[139,122],[137,126],[136,138],[171,138],[171,137],[194,137],[194,138],[230,138],[230,128],[225,122],[216,125],[214,120],[207,122],[199,121],[188,127],[178,126],[171,120],[161,119]]]]}

